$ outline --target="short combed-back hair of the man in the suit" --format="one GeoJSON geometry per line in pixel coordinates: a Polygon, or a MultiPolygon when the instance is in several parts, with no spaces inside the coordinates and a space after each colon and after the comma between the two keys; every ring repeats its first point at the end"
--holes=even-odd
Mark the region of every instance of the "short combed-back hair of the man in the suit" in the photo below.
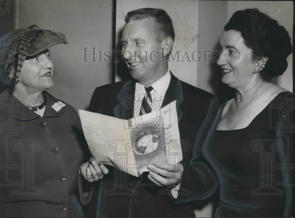
{"type": "Polygon", "coordinates": [[[163,40],[166,37],[171,37],[174,41],[175,32],[172,25],[172,20],[163,9],[159,8],[140,8],[130,11],[125,16],[125,22],[129,23],[131,20],[141,20],[153,17],[157,24],[156,34],[158,40],[163,40]]]}

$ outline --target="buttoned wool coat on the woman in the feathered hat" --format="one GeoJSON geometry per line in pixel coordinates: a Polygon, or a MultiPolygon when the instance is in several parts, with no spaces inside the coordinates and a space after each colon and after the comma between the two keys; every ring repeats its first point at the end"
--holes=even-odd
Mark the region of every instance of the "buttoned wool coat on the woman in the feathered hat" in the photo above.
{"type": "Polygon", "coordinates": [[[66,103],[55,111],[59,100],[43,95],[42,118],[8,90],[0,95],[0,217],[68,217],[79,206],[80,119],[66,103]]]}

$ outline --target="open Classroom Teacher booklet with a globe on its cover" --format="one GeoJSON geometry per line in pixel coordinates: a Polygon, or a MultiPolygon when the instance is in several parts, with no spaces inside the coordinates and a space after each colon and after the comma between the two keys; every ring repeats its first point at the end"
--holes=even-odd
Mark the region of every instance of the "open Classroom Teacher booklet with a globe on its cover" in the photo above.
{"type": "Polygon", "coordinates": [[[83,132],[96,161],[134,176],[155,162],[182,160],[176,101],[129,120],[79,110],[83,132]]]}

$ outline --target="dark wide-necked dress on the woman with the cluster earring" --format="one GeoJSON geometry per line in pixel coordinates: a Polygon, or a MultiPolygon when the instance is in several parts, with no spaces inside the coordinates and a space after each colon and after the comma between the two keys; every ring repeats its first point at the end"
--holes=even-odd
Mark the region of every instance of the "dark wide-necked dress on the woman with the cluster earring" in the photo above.
{"type": "MultiPolygon", "coordinates": [[[[287,93],[280,93],[246,128],[237,130],[216,130],[225,103],[221,106],[214,129],[209,131],[202,149],[219,178],[221,202],[215,217],[290,215],[292,187],[280,182],[288,180],[288,169],[282,169],[281,164],[288,161],[290,164],[293,160],[293,143],[277,137],[277,122],[283,105],[276,107],[276,99],[278,102],[285,99],[287,93]]],[[[290,172],[289,183],[292,183],[290,172]]]]}

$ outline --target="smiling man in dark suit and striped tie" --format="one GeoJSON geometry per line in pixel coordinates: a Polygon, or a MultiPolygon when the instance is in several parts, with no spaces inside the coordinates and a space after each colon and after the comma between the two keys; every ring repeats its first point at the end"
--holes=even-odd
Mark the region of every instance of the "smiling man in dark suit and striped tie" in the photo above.
{"type": "Polygon", "coordinates": [[[81,173],[89,181],[98,180],[96,216],[194,217],[189,201],[206,199],[217,188],[201,155],[217,98],[169,71],[175,33],[164,10],[137,9],[126,15],[125,22],[122,56],[133,79],[96,88],[89,111],[130,119],[176,100],[183,160],[168,167],[161,162],[148,165],[150,172],[137,178],[91,159],[92,165],[81,167],[81,173]]]}

